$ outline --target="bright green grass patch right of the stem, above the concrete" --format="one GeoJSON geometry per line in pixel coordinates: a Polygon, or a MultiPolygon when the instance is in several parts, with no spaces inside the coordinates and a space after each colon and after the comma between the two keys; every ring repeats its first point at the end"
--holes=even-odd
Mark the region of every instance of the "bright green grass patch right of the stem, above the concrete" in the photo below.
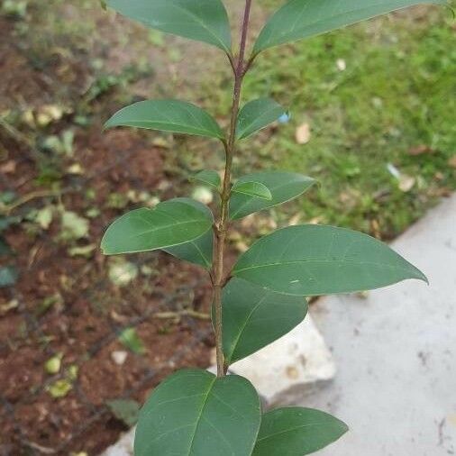
{"type": "MultiPolygon", "coordinates": [[[[415,21],[400,14],[260,56],[244,99],[270,95],[292,117],[243,145],[237,171],[293,169],[318,178],[321,187],[289,205],[287,216],[297,212],[302,221],[385,239],[454,190],[455,23],[448,10],[426,12],[415,21]],[[305,145],[295,140],[302,123],[312,132],[305,145]],[[388,164],[413,187],[401,190],[388,164]]],[[[220,113],[228,109],[224,85],[205,86],[220,113]]]]}

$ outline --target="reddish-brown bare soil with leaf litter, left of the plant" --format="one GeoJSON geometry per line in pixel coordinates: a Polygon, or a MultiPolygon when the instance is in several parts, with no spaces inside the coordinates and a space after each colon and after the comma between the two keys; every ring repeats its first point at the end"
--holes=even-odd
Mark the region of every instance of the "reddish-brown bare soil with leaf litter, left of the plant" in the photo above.
{"type": "MultiPolygon", "coordinates": [[[[12,24],[0,18],[2,112],[21,98],[29,105],[46,103],[50,77],[61,74],[59,61],[43,71],[31,68],[13,45],[11,32],[12,24]]],[[[78,64],[73,70],[84,87],[87,68],[78,64]]],[[[50,132],[59,134],[72,122],[71,115],[64,116],[50,132]]],[[[33,198],[11,215],[23,216],[50,204],[81,216],[99,208],[100,214],[90,220],[88,237],[73,245],[97,246],[105,227],[128,209],[106,205],[110,195],[160,188],[160,198],[165,198],[182,187],[182,181],[166,171],[166,150],[151,147],[146,136],[122,130],[102,134],[96,114],[90,127],[74,131],[74,157],[86,171],[62,171],[59,197],[33,198]]],[[[52,157],[34,150],[27,132],[25,127],[19,132],[0,127],[0,194],[14,189],[22,197],[52,189],[37,184],[43,158],[52,157]]],[[[68,169],[73,160],[59,160],[59,169],[68,169]]],[[[141,403],[172,370],[209,365],[214,342],[207,320],[156,315],[178,315],[186,308],[208,313],[210,287],[201,269],[163,253],[143,254],[128,259],[139,265],[138,278],[128,287],[117,287],[107,277],[110,259],[98,249],[89,258],[68,253],[58,219],[41,231],[32,231],[30,223],[14,224],[3,236],[13,254],[0,257],[0,266],[14,264],[20,275],[14,287],[0,288],[0,454],[96,455],[126,430],[106,401],[132,398],[141,403]],[[57,296],[51,304],[50,296],[57,296]],[[119,342],[119,333],[128,327],[136,328],[143,353],[119,342]],[[123,364],[114,361],[114,351],[128,352],[123,364]],[[62,368],[52,376],[44,365],[56,354],[62,355],[62,368]],[[73,366],[78,370],[68,394],[52,397],[48,388],[68,378],[73,366]]]]}

